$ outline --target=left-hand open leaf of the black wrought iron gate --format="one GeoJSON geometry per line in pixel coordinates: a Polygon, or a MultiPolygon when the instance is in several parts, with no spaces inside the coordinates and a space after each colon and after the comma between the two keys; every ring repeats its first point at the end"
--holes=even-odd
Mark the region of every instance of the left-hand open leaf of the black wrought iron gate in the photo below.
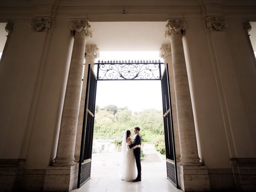
{"type": "Polygon", "coordinates": [[[82,186],[88,179],[90,179],[91,174],[92,138],[94,127],[96,87],[97,78],[92,70],[91,65],[89,64],[78,170],[78,188],[80,188],[80,186],[82,186]]]}

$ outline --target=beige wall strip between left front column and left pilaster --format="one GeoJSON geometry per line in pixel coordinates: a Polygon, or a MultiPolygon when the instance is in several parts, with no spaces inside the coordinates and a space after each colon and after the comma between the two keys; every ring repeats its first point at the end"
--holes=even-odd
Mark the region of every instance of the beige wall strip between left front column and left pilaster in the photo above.
{"type": "Polygon", "coordinates": [[[26,154],[26,169],[46,169],[56,155],[60,119],[66,90],[73,38],[69,22],[56,21],[52,28],[31,135],[26,154]]]}

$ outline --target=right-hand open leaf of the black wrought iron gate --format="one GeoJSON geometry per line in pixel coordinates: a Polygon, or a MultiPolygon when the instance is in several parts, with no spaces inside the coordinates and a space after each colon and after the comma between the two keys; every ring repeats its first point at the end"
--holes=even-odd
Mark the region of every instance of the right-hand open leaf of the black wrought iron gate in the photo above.
{"type": "Polygon", "coordinates": [[[168,64],[164,69],[161,79],[162,85],[162,100],[163,100],[163,114],[164,114],[164,138],[166,151],[166,167],[167,178],[178,188],[176,154],[174,145],[174,131],[172,124],[172,106],[170,97],[168,64]]]}

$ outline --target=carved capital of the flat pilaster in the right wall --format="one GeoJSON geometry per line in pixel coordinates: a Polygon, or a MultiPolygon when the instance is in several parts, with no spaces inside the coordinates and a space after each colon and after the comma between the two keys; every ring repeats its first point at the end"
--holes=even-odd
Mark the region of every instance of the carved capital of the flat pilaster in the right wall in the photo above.
{"type": "Polygon", "coordinates": [[[210,30],[222,31],[228,26],[226,17],[206,18],[206,26],[210,30]]]}

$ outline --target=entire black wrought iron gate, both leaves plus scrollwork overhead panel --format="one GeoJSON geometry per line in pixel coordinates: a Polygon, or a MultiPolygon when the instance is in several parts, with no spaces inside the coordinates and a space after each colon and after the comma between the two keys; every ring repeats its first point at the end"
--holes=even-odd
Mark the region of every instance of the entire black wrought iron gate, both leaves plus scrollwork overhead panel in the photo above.
{"type": "Polygon", "coordinates": [[[91,65],[89,65],[88,69],[86,102],[84,106],[84,121],[78,170],[78,188],[90,179],[96,86],[98,80],[161,80],[167,178],[178,188],[167,64],[162,78],[161,65],[163,65],[163,63],[160,61],[99,61],[98,63],[95,63],[95,65],[98,65],[97,76],[95,76],[91,65]]]}

